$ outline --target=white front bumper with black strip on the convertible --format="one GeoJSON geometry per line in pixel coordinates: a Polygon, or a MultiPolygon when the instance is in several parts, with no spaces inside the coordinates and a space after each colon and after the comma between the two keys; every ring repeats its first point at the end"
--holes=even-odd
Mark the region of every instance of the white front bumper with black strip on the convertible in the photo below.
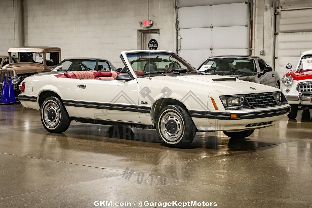
{"type": "Polygon", "coordinates": [[[266,108],[263,110],[245,110],[230,112],[190,112],[199,131],[242,131],[247,129],[264,128],[279,123],[290,112],[290,105],[266,108]],[[197,114],[195,114],[197,113],[197,114]],[[239,118],[231,119],[232,114],[239,118]],[[207,123],[208,120],[208,123],[207,123]]]}

